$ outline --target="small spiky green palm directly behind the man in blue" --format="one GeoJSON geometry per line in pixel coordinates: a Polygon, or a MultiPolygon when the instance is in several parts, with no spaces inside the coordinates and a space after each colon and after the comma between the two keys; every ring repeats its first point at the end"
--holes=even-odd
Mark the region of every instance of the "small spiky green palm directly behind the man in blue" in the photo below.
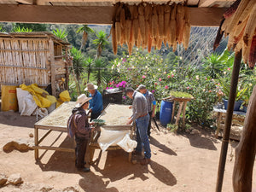
{"type": "Polygon", "coordinates": [[[105,67],[107,65],[101,60],[101,59],[96,59],[94,61],[94,77],[97,81],[97,85],[100,86],[102,84],[102,82],[105,81],[105,76],[106,76],[106,72],[105,72],[105,67]]]}

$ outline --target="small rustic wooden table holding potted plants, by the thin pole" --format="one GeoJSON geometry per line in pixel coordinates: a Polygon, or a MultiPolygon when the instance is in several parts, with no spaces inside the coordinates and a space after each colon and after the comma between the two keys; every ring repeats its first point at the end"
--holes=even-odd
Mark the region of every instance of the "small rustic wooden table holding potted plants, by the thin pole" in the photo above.
{"type": "MultiPolygon", "coordinates": [[[[217,131],[215,133],[215,137],[218,138],[218,134],[220,131],[220,124],[225,121],[227,111],[224,108],[213,108],[213,112],[217,113],[216,117],[216,126],[217,131]]],[[[246,113],[242,111],[233,111],[232,124],[237,124],[243,126],[244,119],[246,117],[246,113]]]]}

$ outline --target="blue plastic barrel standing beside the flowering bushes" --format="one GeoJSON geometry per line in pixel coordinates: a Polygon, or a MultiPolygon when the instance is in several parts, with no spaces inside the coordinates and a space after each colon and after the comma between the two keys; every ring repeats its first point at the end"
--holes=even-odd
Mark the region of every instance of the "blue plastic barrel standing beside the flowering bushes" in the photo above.
{"type": "Polygon", "coordinates": [[[160,108],[160,124],[161,125],[166,126],[171,122],[172,103],[173,102],[167,102],[164,100],[161,102],[161,108],[160,108]]]}

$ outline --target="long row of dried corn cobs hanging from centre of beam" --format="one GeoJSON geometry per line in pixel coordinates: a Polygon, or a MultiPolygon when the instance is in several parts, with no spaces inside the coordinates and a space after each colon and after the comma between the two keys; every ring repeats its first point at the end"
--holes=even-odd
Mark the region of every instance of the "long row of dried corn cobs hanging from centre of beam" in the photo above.
{"type": "Polygon", "coordinates": [[[148,49],[161,49],[162,44],[177,44],[189,47],[190,20],[189,10],[183,4],[129,5],[116,3],[111,28],[113,53],[117,54],[118,45],[127,44],[129,54],[133,46],[148,49]]]}

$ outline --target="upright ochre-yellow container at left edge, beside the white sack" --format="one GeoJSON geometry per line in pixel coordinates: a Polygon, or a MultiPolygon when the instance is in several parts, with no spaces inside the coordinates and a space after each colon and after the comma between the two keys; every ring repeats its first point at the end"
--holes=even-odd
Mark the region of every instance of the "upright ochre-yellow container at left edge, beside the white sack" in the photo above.
{"type": "Polygon", "coordinates": [[[2,111],[17,111],[18,101],[16,95],[17,86],[13,85],[2,85],[2,111]]]}

